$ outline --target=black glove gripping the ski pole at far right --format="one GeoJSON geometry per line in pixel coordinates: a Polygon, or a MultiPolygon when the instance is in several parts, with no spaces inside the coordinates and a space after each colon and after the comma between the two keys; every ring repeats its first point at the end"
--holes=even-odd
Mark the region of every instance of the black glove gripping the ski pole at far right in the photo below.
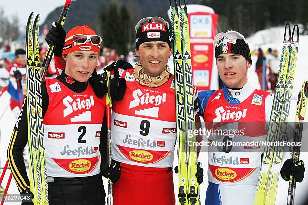
{"type": "Polygon", "coordinates": [[[302,160],[294,162],[293,159],[287,159],[280,170],[280,174],[285,181],[290,180],[290,175],[292,175],[300,183],[305,175],[305,164],[302,160]]]}

